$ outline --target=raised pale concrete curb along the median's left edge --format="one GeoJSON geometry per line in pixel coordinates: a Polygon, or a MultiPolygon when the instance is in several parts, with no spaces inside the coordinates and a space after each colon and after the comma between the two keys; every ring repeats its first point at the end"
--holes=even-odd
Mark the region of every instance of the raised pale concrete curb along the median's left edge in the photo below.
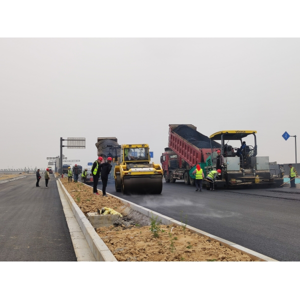
{"type": "Polygon", "coordinates": [[[88,221],[84,213],[75,203],[71,195],[65,189],[60,179],[58,179],[62,192],[64,193],[70,208],[82,230],[83,235],[88,243],[88,246],[93,253],[96,261],[117,261],[111,251],[105,245],[100,236],[96,233],[91,223],[88,221]]]}

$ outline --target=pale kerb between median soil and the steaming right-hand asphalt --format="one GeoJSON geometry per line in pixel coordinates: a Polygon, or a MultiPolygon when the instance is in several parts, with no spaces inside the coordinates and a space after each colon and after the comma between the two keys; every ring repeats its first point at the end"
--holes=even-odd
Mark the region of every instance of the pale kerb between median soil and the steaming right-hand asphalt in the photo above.
{"type": "MultiPolygon", "coordinates": [[[[87,186],[89,186],[88,184],[86,184],[87,186]]],[[[91,187],[91,186],[89,186],[91,187]]],[[[100,189],[98,189],[100,190],[100,189]]],[[[100,190],[101,191],[101,190],[100,190]]],[[[140,213],[148,216],[148,217],[156,217],[157,216],[157,220],[161,219],[161,222],[165,225],[169,225],[169,224],[176,224],[176,225],[179,225],[179,226],[182,226],[182,223],[175,220],[175,219],[172,219],[168,216],[165,216],[163,214],[160,214],[156,211],[153,211],[153,210],[150,210],[148,208],[145,208],[143,206],[140,206],[140,205],[137,205],[133,202],[130,202],[128,200],[125,200],[125,199],[122,199],[118,196],[115,196],[113,194],[110,194],[107,192],[108,195],[118,199],[121,203],[123,203],[124,205],[126,205],[127,207],[130,207],[131,209],[133,210],[137,210],[139,211],[140,213]]],[[[78,207],[78,206],[77,206],[78,207]]],[[[197,229],[195,227],[192,227],[192,226],[189,226],[189,225],[186,225],[186,228],[189,229],[191,232],[193,233],[196,233],[196,234],[199,234],[199,235],[202,235],[202,236],[207,236],[209,239],[211,240],[217,240],[221,246],[225,246],[231,250],[236,250],[236,251],[240,251],[242,252],[243,254],[247,254],[252,260],[259,260],[259,261],[277,261],[276,259],[273,259],[271,257],[268,257],[266,255],[263,255],[261,253],[258,253],[258,252],[255,252],[251,249],[248,249],[248,248],[245,248],[241,245],[238,245],[234,242],[231,242],[229,240],[226,240],[226,239],[223,239],[221,237],[218,237],[218,236],[215,236],[213,234],[210,234],[208,232],[205,232],[205,231],[202,231],[200,229],[197,229]]]]}

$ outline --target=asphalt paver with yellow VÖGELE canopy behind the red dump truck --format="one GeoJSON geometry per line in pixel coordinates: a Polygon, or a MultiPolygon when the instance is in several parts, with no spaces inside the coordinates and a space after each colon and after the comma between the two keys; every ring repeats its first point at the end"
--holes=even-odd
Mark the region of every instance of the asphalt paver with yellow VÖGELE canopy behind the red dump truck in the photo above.
{"type": "MultiPolygon", "coordinates": [[[[255,130],[224,130],[209,136],[211,141],[218,140],[221,144],[221,155],[224,157],[224,167],[221,169],[221,179],[216,180],[219,187],[232,185],[269,185],[279,186],[283,180],[273,177],[269,170],[269,157],[257,156],[255,130]],[[247,136],[253,139],[247,142],[247,136]],[[234,145],[233,145],[234,144],[234,145]]],[[[216,167],[217,153],[211,149],[210,169],[216,167]]]]}

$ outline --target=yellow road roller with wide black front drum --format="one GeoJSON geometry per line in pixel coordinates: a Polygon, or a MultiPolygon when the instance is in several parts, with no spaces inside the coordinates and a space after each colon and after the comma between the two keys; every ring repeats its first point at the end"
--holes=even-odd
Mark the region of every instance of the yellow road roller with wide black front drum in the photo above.
{"type": "Polygon", "coordinates": [[[158,194],[162,190],[162,169],[150,163],[148,144],[122,144],[113,176],[115,191],[122,194],[158,194]]]}

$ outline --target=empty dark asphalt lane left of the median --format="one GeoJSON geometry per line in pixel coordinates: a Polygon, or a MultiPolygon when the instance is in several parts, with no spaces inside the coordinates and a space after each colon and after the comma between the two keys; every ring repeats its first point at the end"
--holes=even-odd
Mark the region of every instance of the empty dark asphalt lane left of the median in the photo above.
{"type": "Polygon", "coordinates": [[[0,261],[76,261],[53,175],[0,184],[0,261]]]}

